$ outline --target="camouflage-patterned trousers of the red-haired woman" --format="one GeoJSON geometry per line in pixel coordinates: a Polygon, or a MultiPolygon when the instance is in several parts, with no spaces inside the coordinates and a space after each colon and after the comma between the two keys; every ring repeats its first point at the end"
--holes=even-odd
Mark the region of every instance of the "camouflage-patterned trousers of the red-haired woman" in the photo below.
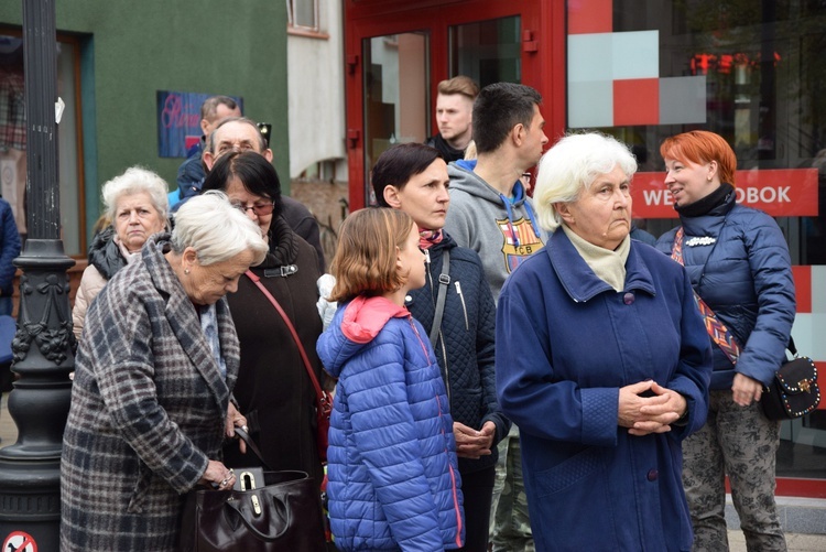
{"type": "Polygon", "coordinates": [[[749,551],[785,551],[774,502],[780,422],[758,403],[738,405],[730,390],[711,391],[708,421],[683,442],[683,486],[694,526],[694,552],[728,550],[725,475],[749,551]]]}

